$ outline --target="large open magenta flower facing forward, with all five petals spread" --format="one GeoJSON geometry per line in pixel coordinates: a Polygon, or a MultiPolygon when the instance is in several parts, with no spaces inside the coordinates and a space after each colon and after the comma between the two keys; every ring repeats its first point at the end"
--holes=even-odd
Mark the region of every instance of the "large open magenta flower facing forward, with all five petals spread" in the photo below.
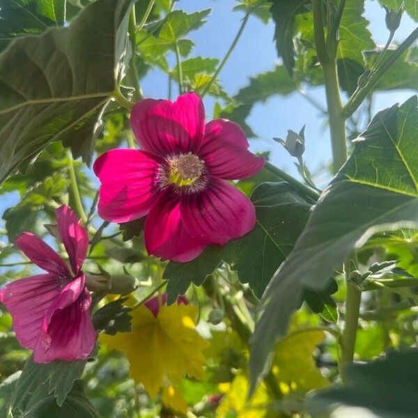
{"type": "Polygon", "coordinates": [[[148,253],[173,261],[254,228],[253,204],[226,180],[253,176],[264,159],[249,152],[236,123],[205,124],[201,99],[187,93],[176,102],[141,100],[131,125],[142,150],[109,150],[95,161],[100,217],[122,223],[147,215],[148,253]]]}

